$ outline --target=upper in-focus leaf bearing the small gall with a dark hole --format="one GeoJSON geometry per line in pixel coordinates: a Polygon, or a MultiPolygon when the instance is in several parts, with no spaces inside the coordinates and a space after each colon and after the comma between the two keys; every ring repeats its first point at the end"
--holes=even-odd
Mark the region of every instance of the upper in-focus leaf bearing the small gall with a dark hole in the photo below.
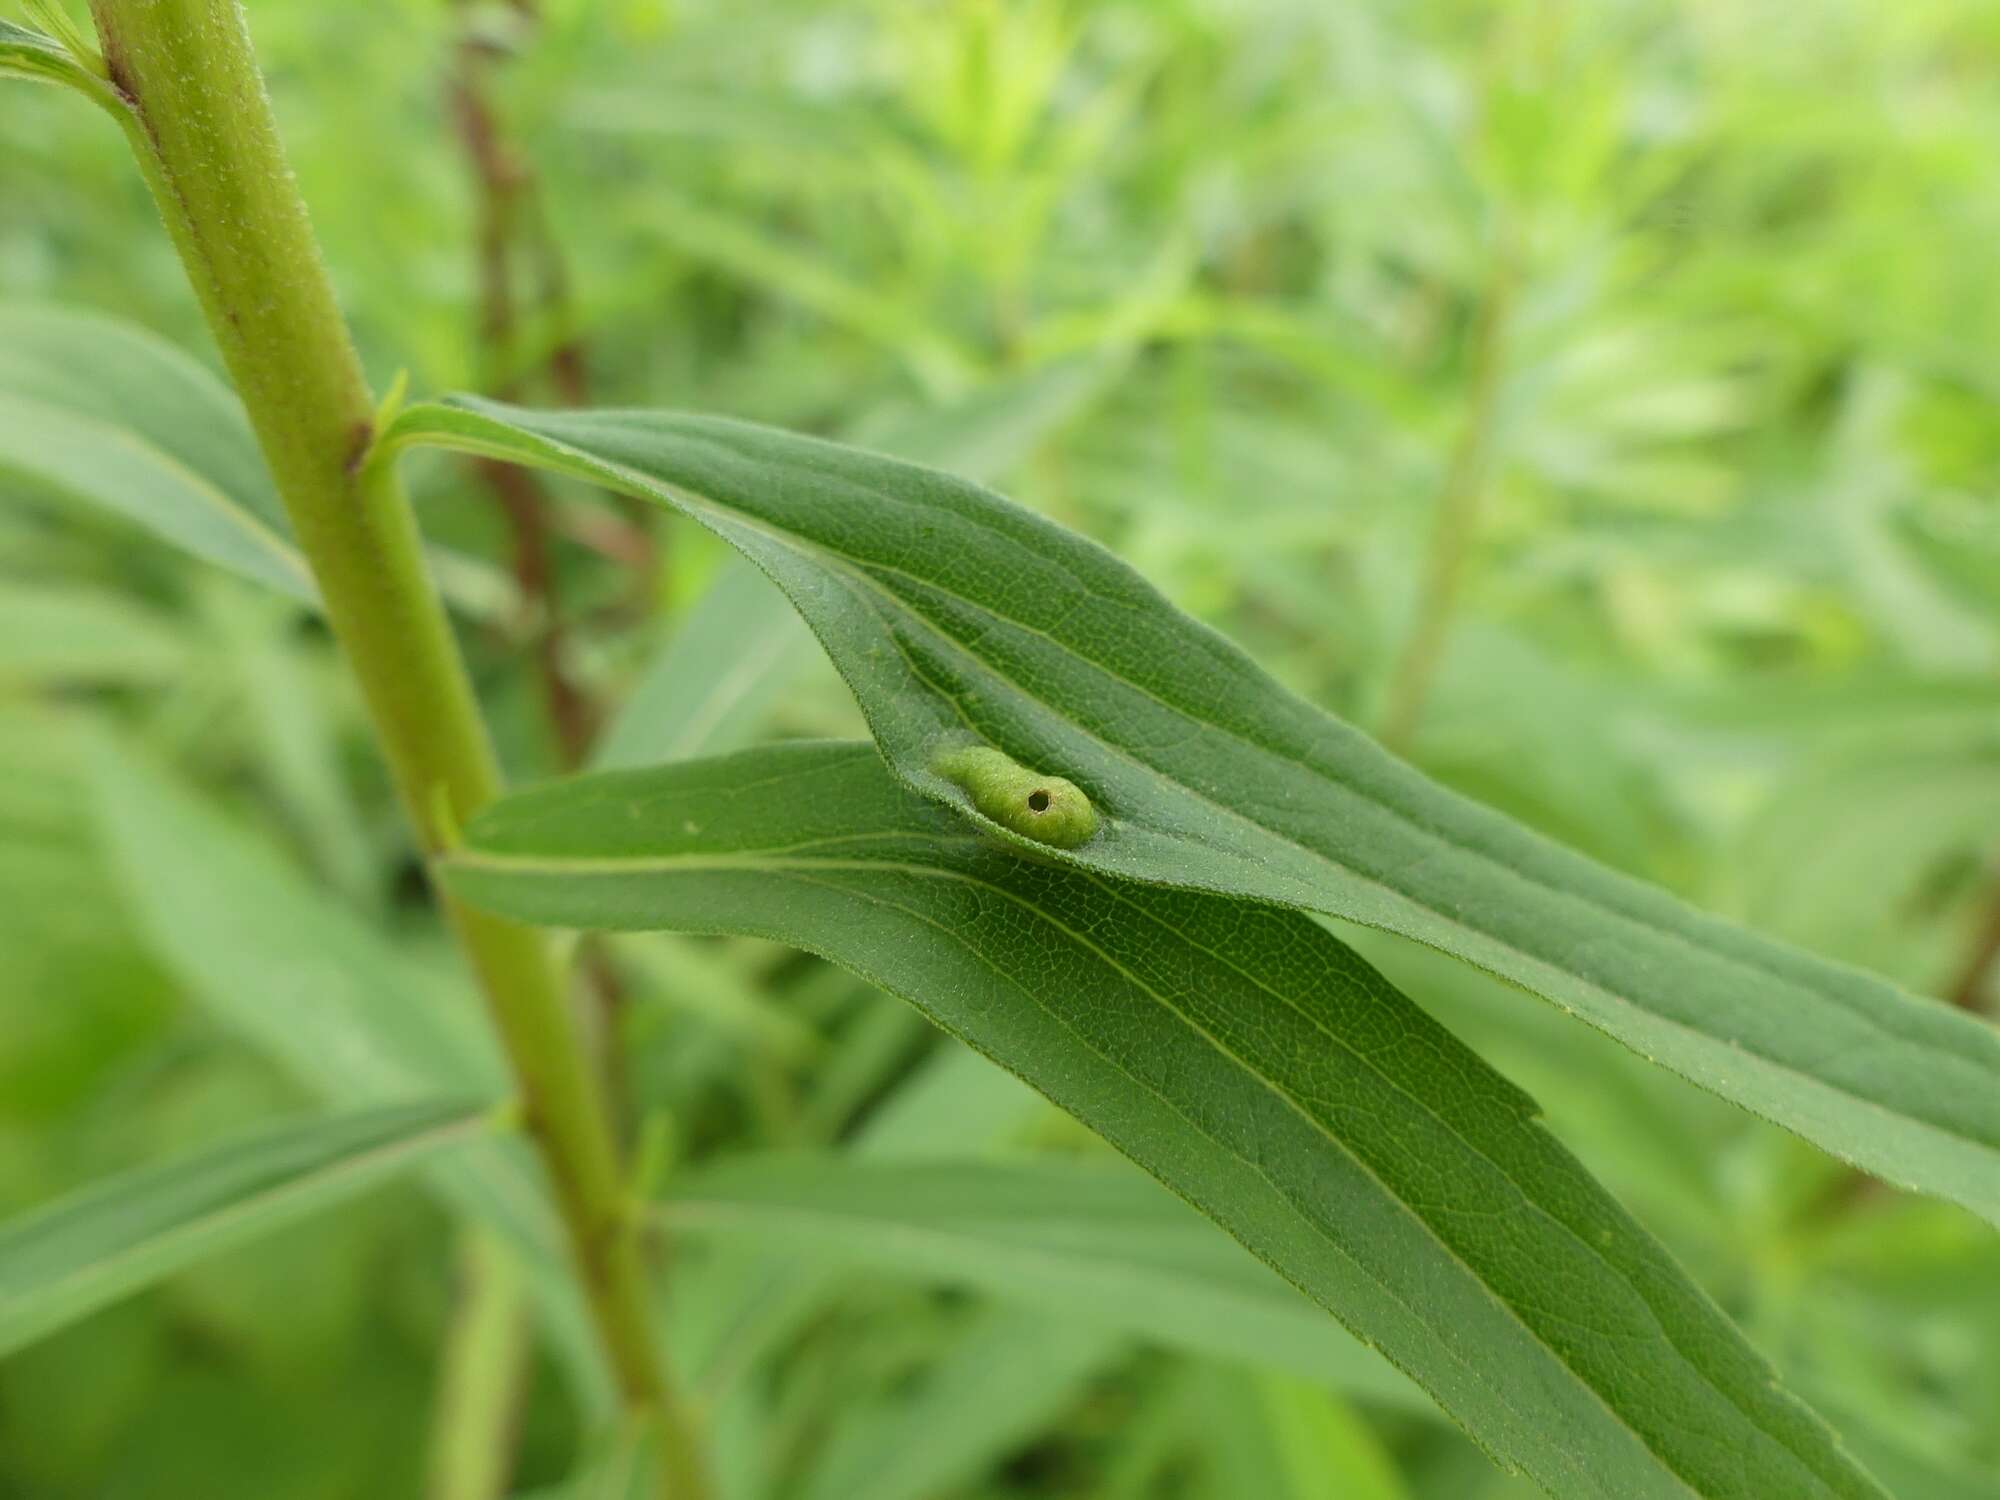
{"type": "MultiPolygon", "coordinates": [[[[664,412],[404,412],[398,444],[672,506],[764,568],[896,774],[992,744],[1102,830],[1066,864],[1400,932],[1546,996],[1858,1166],[2000,1222],[2000,1034],[1696,912],[1468,802],[1294,698],[1102,548],[962,480],[664,412]]],[[[1022,840],[1026,842],[1026,840],[1022,840]]]]}

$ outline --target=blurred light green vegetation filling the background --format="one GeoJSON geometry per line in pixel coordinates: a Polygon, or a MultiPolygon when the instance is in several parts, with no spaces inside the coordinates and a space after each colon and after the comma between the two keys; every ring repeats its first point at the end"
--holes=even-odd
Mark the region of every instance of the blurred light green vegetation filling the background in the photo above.
{"type": "MultiPolygon", "coordinates": [[[[2000,994],[1994,8],[250,10],[378,386],[698,406],[990,478],[1434,776],[1914,990],[2000,994]]],[[[0,294],[212,362],[122,142],[54,90],[0,92],[0,294]]],[[[514,778],[860,732],[706,536],[412,474],[514,778]]],[[[12,1212],[324,1096],[296,1016],[356,976],[464,982],[320,626],[0,502],[12,1212]],[[106,734],[198,796],[106,814],[106,734]],[[146,838],[214,840],[210,948],[272,942],[236,972],[176,942],[146,838]]],[[[1352,940],[1898,1494],[2000,1494],[1990,1232],[1352,940]]],[[[626,1124],[668,1154],[1102,1150],[788,952],[618,938],[590,968],[626,1124]]],[[[680,1254],[748,1276],[802,1238],[692,1224],[680,1254]]],[[[814,1242],[754,1326],[676,1314],[744,1496],[1516,1494],[1372,1366],[814,1242]]],[[[182,1274],[0,1366],[0,1494],[416,1494],[476,1270],[404,1186],[182,1274]]],[[[578,1442],[540,1352],[518,1486],[578,1442]]]]}

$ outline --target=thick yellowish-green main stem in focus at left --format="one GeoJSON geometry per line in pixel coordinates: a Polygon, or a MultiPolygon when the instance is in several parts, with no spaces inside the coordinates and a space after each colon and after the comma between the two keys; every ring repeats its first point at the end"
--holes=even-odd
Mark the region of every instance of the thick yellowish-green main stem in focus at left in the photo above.
{"type": "MultiPolygon", "coordinates": [[[[416,516],[372,464],[374,402],[278,140],[238,0],[92,0],[122,124],[234,376],[426,854],[498,766],[416,516]]],[[[532,930],[440,894],[514,1068],[626,1404],[664,1428],[676,1496],[706,1496],[654,1348],[602,1092],[532,930]]]]}

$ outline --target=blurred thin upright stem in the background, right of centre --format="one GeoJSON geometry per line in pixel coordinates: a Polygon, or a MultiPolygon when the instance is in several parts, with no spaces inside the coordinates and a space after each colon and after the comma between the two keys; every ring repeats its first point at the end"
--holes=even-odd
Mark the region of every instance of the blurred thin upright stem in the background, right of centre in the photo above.
{"type": "Polygon", "coordinates": [[[1480,500],[1492,462],[1494,426],[1500,412],[1500,388],[1506,368],[1506,328],[1514,312],[1516,268],[1510,242],[1502,236],[1494,252],[1492,274],[1480,298],[1472,324],[1472,370],[1466,422],[1452,450],[1444,488],[1438,492],[1438,516],[1430,532],[1430,554],[1424,562],[1424,582],[1416,602],[1416,624],[1404,642],[1402,656],[1390,676],[1388,704],[1382,714],[1382,744],[1408,750],[1424,718],[1430,684],[1438,676],[1444,644],[1458,604],[1458,588],[1466,572],[1466,556],[1478,528],[1480,500]]]}

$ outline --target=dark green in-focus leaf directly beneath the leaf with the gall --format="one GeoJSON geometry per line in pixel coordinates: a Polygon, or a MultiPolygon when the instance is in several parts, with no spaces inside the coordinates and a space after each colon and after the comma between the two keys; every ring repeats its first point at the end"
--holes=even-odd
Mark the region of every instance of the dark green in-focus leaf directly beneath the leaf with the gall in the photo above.
{"type": "Polygon", "coordinates": [[[556,782],[450,886],[824,954],[1022,1074],[1556,1496],[1878,1496],[1532,1102],[1306,916],[1024,858],[806,744],[556,782]]]}

